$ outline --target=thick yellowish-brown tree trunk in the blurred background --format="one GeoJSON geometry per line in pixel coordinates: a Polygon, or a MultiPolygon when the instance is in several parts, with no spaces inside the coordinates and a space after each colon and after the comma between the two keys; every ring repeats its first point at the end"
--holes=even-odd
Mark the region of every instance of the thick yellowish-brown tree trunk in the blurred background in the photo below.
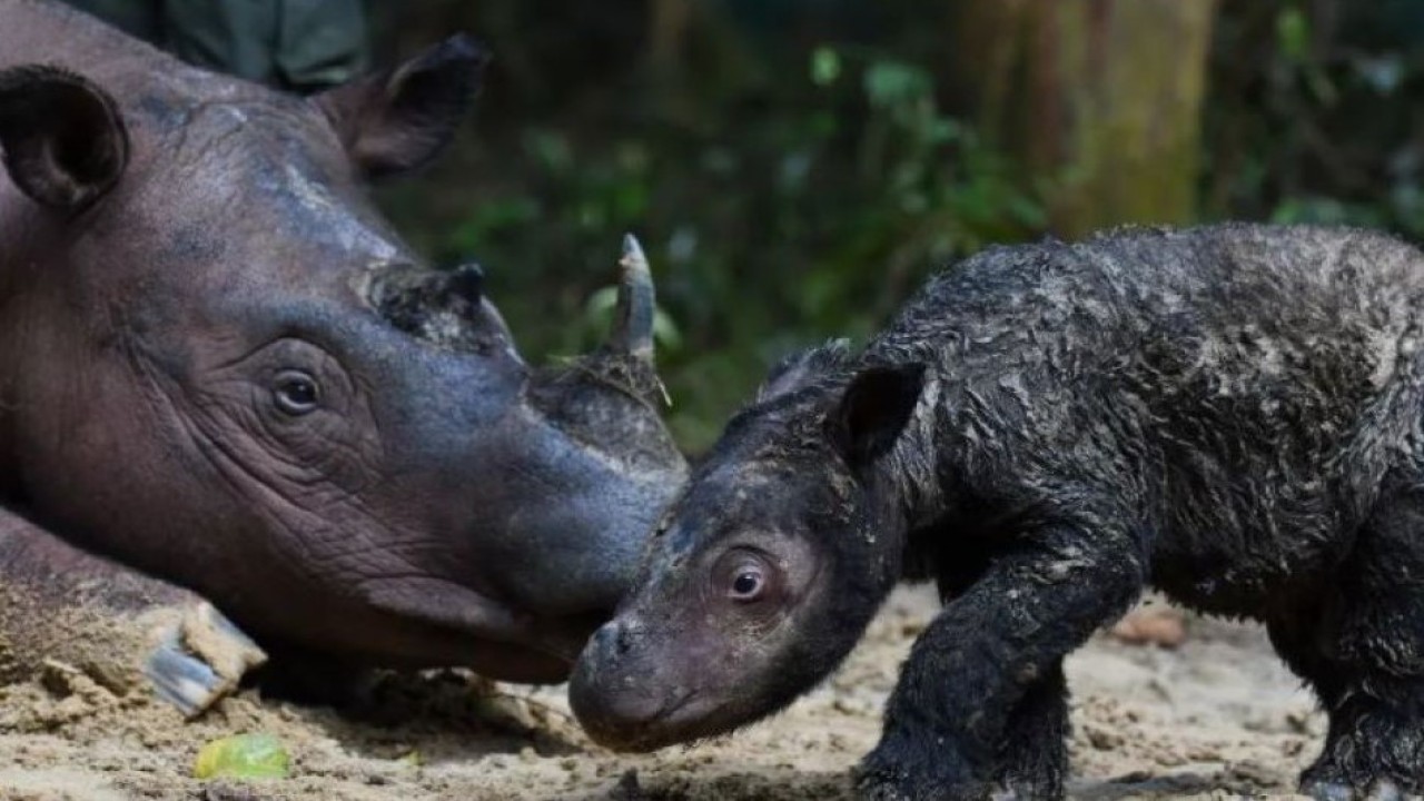
{"type": "Polygon", "coordinates": [[[1079,237],[1196,212],[1216,0],[961,0],[957,77],[1079,237]]]}

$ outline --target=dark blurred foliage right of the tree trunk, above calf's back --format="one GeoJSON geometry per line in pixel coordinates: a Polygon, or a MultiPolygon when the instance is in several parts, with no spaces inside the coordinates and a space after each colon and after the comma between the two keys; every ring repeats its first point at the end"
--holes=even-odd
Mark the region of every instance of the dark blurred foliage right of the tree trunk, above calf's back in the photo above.
{"type": "Polygon", "coordinates": [[[1213,90],[1206,217],[1424,237],[1424,4],[1240,9],[1223,21],[1213,90]]]}

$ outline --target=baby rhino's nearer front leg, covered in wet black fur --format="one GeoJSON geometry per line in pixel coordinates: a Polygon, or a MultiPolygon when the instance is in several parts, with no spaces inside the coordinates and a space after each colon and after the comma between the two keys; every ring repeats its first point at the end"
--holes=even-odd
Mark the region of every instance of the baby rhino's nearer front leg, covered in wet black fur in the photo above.
{"type": "Polygon", "coordinates": [[[1129,534],[1078,524],[1022,532],[1008,547],[914,643],[880,744],[857,768],[863,798],[978,800],[995,778],[1020,795],[1061,794],[1065,765],[1034,768],[1044,777],[1004,771],[1035,764],[1017,758],[1024,753],[1061,761],[1062,744],[1045,738],[1062,738],[1064,727],[1011,731],[1010,723],[1062,720],[1048,708],[1065,704],[1061,690],[1057,698],[1030,690],[1055,686],[1064,656],[1126,611],[1145,582],[1143,559],[1129,534]],[[1015,714],[1025,698],[1042,708],[1015,714]]]}

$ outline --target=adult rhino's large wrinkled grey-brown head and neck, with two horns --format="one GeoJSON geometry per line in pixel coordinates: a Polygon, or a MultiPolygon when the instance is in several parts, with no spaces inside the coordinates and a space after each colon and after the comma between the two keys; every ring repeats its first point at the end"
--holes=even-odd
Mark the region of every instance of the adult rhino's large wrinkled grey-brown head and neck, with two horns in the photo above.
{"type": "MultiPolygon", "coordinates": [[[[449,141],[481,63],[457,37],[302,100],[0,0],[0,590],[567,674],[685,466],[645,267],[608,346],[540,372],[478,269],[426,268],[367,200],[449,141]]],[[[0,614],[0,651],[33,627],[0,614]]]]}

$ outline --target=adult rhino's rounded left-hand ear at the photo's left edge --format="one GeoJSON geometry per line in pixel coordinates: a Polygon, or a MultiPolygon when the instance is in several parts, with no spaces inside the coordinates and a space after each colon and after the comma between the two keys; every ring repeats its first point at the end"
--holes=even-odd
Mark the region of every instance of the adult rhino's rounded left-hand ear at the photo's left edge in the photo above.
{"type": "Polygon", "coordinates": [[[128,167],[118,104],[57,67],[0,70],[0,150],[21,192],[66,212],[104,197],[128,167]]]}

